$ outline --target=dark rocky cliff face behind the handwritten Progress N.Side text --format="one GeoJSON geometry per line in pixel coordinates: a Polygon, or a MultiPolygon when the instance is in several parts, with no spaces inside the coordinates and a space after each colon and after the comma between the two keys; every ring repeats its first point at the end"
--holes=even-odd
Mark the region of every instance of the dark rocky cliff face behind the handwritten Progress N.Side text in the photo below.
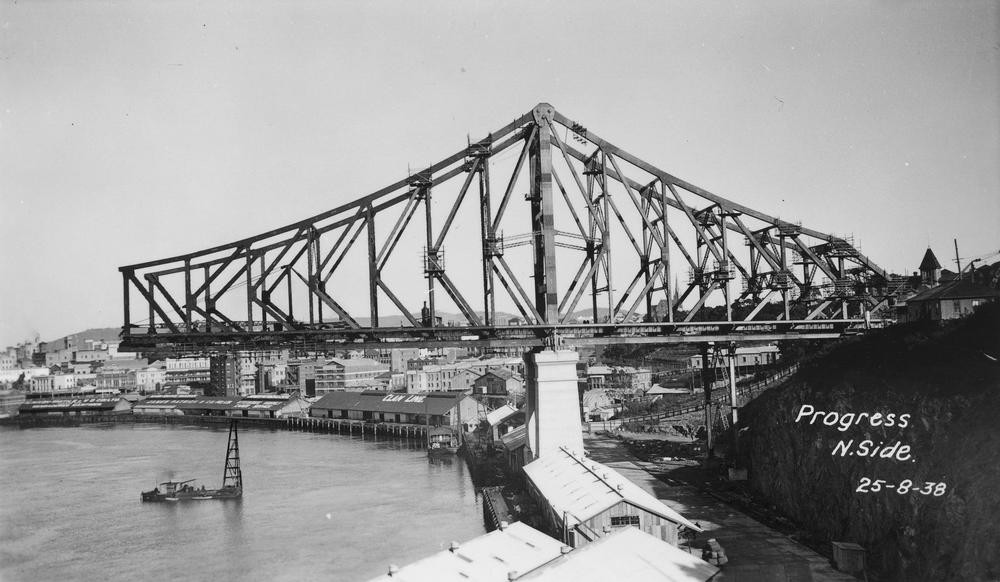
{"type": "Polygon", "coordinates": [[[754,491],[817,538],[865,547],[872,579],[1000,579],[1000,306],[991,307],[945,328],[833,346],[751,403],[740,453],[754,491]],[[891,457],[868,456],[896,442],[891,457]]]}

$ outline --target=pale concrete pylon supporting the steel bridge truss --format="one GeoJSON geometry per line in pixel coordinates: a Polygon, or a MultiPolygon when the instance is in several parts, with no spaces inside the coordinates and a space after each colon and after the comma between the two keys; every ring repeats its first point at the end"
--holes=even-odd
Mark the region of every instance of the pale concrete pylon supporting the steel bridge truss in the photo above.
{"type": "Polygon", "coordinates": [[[579,354],[573,350],[546,349],[524,355],[528,393],[525,462],[558,452],[560,447],[583,452],[576,375],[579,360],[579,354]]]}

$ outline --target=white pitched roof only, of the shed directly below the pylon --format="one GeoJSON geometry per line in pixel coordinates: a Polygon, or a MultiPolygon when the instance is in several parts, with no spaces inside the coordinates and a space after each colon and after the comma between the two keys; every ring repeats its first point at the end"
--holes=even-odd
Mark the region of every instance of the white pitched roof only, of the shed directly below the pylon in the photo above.
{"type": "Polygon", "coordinates": [[[611,467],[565,448],[528,463],[524,472],[556,515],[566,515],[570,526],[626,501],[674,523],[702,531],[611,467]]]}

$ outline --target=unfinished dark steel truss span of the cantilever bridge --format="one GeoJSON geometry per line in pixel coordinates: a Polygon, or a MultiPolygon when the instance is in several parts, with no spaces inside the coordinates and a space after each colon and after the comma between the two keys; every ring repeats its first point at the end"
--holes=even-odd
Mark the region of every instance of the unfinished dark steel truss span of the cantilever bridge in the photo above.
{"type": "Polygon", "coordinates": [[[546,103],[333,210],[119,271],[123,349],[176,353],[830,338],[880,325],[889,296],[846,238],[546,103]]]}

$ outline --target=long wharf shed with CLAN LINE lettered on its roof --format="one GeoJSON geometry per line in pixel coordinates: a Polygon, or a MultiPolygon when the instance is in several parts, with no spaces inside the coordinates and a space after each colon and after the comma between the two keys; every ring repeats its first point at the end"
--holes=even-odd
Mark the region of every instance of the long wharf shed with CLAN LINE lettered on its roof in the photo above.
{"type": "Polygon", "coordinates": [[[309,416],[459,428],[478,418],[479,405],[462,392],[328,392],[313,403],[309,416]]]}

